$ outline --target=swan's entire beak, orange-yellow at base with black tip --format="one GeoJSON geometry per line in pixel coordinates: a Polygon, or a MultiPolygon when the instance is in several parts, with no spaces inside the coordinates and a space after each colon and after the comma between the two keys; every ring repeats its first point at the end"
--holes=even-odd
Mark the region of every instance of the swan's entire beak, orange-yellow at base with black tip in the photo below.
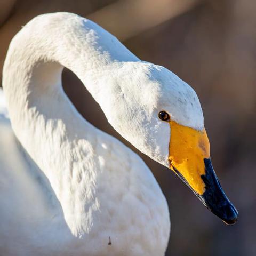
{"type": "Polygon", "coordinates": [[[198,131],[170,121],[169,163],[200,201],[226,224],[237,221],[238,212],[221,188],[211,158],[205,129],[198,131]]]}

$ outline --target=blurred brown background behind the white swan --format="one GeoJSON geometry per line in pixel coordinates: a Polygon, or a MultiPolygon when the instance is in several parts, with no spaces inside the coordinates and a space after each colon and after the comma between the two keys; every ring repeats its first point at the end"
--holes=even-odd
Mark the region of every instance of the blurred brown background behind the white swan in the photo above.
{"type": "Polygon", "coordinates": [[[99,23],[140,59],[180,76],[201,100],[214,169],[239,211],[234,226],[207,211],[174,173],[122,139],[78,78],[63,71],[63,87],[76,108],[137,151],[162,187],[172,222],[166,255],[256,255],[256,2],[0,0],[1,73],[7,47],[21,26],[56,11],[99,23]]]}

